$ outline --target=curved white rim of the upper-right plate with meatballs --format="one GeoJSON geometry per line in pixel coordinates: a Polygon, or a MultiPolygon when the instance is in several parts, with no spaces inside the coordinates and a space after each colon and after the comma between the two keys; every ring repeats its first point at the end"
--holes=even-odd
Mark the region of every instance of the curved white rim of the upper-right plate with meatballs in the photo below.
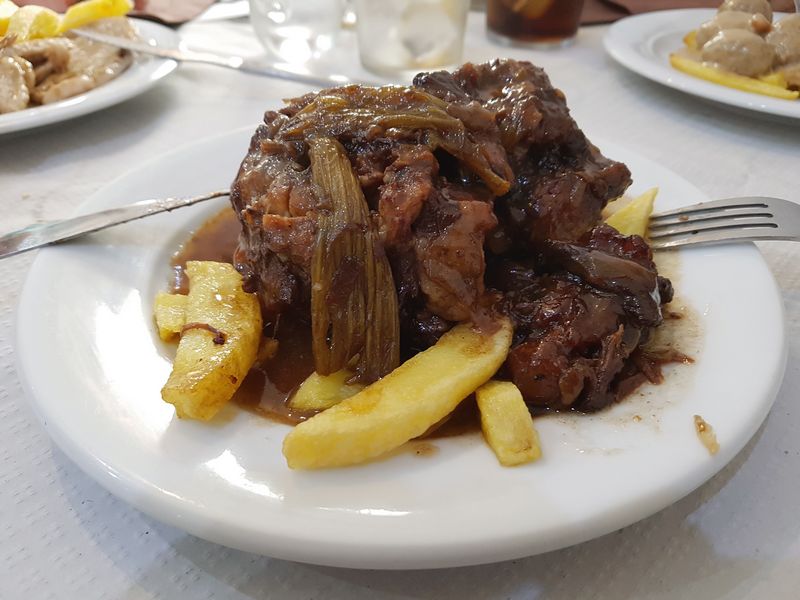
{"type": "MultiPolygon", "coordinates": [[[[693,15],[697,25],[716,11],[713,8],[679,8],[658,10],[638,15],[631,15],[613,23],[603,36],[603,47],[606,53],[611,56],[618,64],[629,71],[659,83],[670,89],[683,92],[701,100],[711,101],[726,106],[744,109],[750,112],[780,117],[781,119],[800,119],[800,99],[780,100],[753,94],[734,88],[704,81],[677,69],[668,64],[655,62],[649,57],[644,56],[634,46],[634,42],[629,38],[636,38],[637,43],[647,43],[651,37],[645,37],[644,27],[648,25],[658,25],[669,18],[686,18],[693,15]],[[785,102],[786,104],[781,104],[785,102]],[[794,104],[792,104],[794,102],[794,104]]],[[[776,13],[776,15],[786,15],[791,13],[776,13]]],[[[661,32],[669,33],[669,32],[661,32]]],[[[676,32],[677,33],[677,32],[676,32]]],[[[681,31],[685,34],[685,31],[681,31]]]]}

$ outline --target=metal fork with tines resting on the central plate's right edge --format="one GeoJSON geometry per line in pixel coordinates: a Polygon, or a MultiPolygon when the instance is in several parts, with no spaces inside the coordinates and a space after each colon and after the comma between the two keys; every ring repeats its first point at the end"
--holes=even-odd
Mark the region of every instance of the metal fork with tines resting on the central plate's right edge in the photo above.
{"type": "Polygon", "coordinates": [[[650,217],[650,246],[669,250],[742,240],[800,240],[800,204],[747,196],[702,202],[650,217]]]}

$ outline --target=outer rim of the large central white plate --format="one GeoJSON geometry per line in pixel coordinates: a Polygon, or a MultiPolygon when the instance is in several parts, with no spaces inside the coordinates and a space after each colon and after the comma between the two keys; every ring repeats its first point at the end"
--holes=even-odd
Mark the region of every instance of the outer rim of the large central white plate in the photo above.
{"type": "MultiPolygon", "coordinates": [[[[240,128],[234,131],[226,132],[223,134],[219,134],[216,136],[208,137],[202,140],[202,142],[212,142],[215,139],[219,138],[226,138],[228,136],[233,135],[243,135],[244,133],[251,133],[252,128],[245,127],[240,128]]],[[[601,147],[611,144],[612,146],[617,146],[617,144],[612,143],[604,143],[604,140],[596,139],[597,142],[601,147]]],[[[136,168],[131,169],[129,172],[126,172],[122,176],[116,178],[114,181],[105,184],[100,190],[98,190],[95,194],[92,194],[86,202],[81,205],[81,208],[78,209],[78,212],[87,205],[91,205],[92,203],[98,202],[98,199],[101,197],[103,191],[106,188],[112,187],[116,185],[118,182],[125,180],[127,177],[131,175],[133,172],[141,172],[142,169],[146,169],[148,165],[156,164],[160,161],[163,161],[166,157],[179,155],[182,151],[190,146],[197,145],[197,142],[191,144],[185,144],[182,147],[176,148],[171,150],[170,152],[164,153],[163,155],[153,157],[152,159],[148,160],[147,162],[141,163],[137,165],[136,168]]],[[[650,159],[647,159],[643,155],[641,155],[637,151],[630,151],[632,154],[635,154],[643,159],[647,160],[648,162],[655,163],[650,159]]],[[[673,176],[686,181],[683,177],[678,175],[677,173],[662,167],[663,169],[669,171],[673,176]]],[[[764,264],[766,272],[769,273],[771,277],[771,282],[773,289],[771,290],[772,294],[774,295],[775,299],[777,300],[778,307],[780,310],[780,322],[785,323],[785,315],[784,315],[784,308],[782,298],[779,293],[779,288],[777,287],[777,282],[775,282],[774,277],[771,276],[771,272],[766,265],[766,262],[763,259],[763,256],[754,248],[755,253],[758,255],[760,261],[764,264]]],[[[15,348],[20,347],[20,339],[22,334],[22,310],[21,307],[25,299],[32,293],[32,280],[34,279],[34,274],[37,269],[42,268],[42,264],[45,262],[41,259],[41,256],[47,256],[49,252],[53,252],[54,249],[46,249],[43,252],[40,252],[40,256],[36,257],[34,264],[31,266],[28,275],[26,276],[25,284],[23,286],[22,292],[20,293],[18,306],[15,313],[15,320],[14,320],[14,330],[13,330],[13,339],[15,343],[15,348]]],[[[765,403],[763,407],[763,411],[760,414],[760,417],[754,419],[752,422],[749,423],[751,431],[747,433],[744,437],[741,445],[735,448],[733,454],[731,455],[730,459],[732,459],[738,452],[744,447],[744,445],[751,439],[752,435],[761,426],[764,418],[769,413],[769,410],[772,407],[772,404],[775,399],[775,395],[781,385],[782,382],[782,374],[785,370],[786,360],[788,357],[788,345],[785,333],[781,332],[781,339],[780,339],[780,350],[779,350],[780,358],[775,365],[775,376],[771,378],[769,390],[767,391],[767,396],[769,401],[765,403]]],[[[637,512],[643,513],[640,514],[634,521],[630,521],[627,518],[624,518],[624,523],[619,524],[617,523],[614,526],[609,528],[607,523],[602,523],[600,519],[596,519],[595,523],[579,523],[579,527],[573,527],[573,531],[571,535],[565,536],[560,535],[557,536],[557,539],[550,539],[546,540],[544,543],[539,543],[537,545],[535,552],[530,552],[526,550],[530,548],[530,540],[527,539],[525,536],[517,536],[514,539],[513,544],[506,543],[503,545],[502,548],[493,548],[491,550],[491,558],[486,558],[484,555],[486,554],[486,549],[483,551],[476,551],[471,548],[464,548],[459,551],[451,551],[449,553],[448,558],[442,559],[440,555],[437,555],[437,552],[440,552],[442,548],[448,547],[447,544],[442,544],[441,547],[439,546],[420,546],[417,548],[409,548],[409,546],[403,546],[396,549],[392,548],[381,548],[381,552],[383,553],[382,557],[377,560],[377,562],[369,563],[369,561],[364,560],[353,560],[346,558],[348,552],[357,552],[362,551],[363,548],[361,546],[348,546],[348,540],[339,540],[335,545],[328,543],[328,544],[320,544],[318,540],[315,540],[315,543],[319,544],[319,547],[315,550],[315,554],[309,556],[307,552],[294,550],[281,550],[280,552],[275,551],[265,551],[265,545],[263,540],[256,540],[256,541],[247,541],[247,531],[244,529],[237,529],[237,528],[220,528],[219,524],[208,522],[208,517],[204,515],[202,510],[196,510],[196,507],[188,505],[185,500],[180,498],[171,497],[169,494],[165,493],[165,490],[161,490],[160,488],[154,487],[151,482],[148,482],[146,478],[141,476],[135,476],[131,474],[130,477],[125,477],[123,473],[116,471],[113,465],[109,465],[103,462],[99,457],[92,455],[91,452],[86,451],[84,448],[80,446],[80,444],[69,437],[69,435],[63,431],[57,423],[48,422],[47,415],[42,411],[42,406],[40,405],[39,400],[36,398],[35,394],[33,393],[33,386],[31,385],[30,373],[28,372],[28,365],[23,363],[23,357],[20,352],[15,353],[15,362],[17,367],[17,373],[19,375],[19,380],[22,385],[23,391],[25,393],[26,399],[28,403],[33,408],[35,414],[39,418],[39,420],[43,423],[45,429],[47,430],[48,434],[51,438],[55,441],[55,443],[65,452],[65,454],[75,462],[78,467],[83,470],[86,474],[92,477],[95,481],[97,481],[102,487],[109,490],[112,494],[116,495],[117,497],[123,499],[124,501],[128,502],[138,510],[149,514],[153,518],[169,523],[171,525],[175,525],[184,529],[185,531],[197,535],[198,537],[209,539],[217,543],[221,543],[230,547],[239,548],[241,550],[250,551],[250,552],[257,552],[262,554],[269,554],[271,556],[276,556],[278,558],[289,559],[289,560],[299,560],[302,562],[311,562],[315,564],[324,564],[324,565],[331,565],[331,566],[357,566],[357,567],[364,567],[364,568],[396,568],[396,569],[405,569],[405,568],[420,568],[422,565],[425,565],[427,568],[443,568],[443,567],[452,567],[452,566],[465,566],[465,565],[474,565],[474,564],[482,564],[487,562],[494,562],[497,560],[506,560],[510,558],[516,558],[520,556],[527,556],[531,554],[538,554],[541,552],[545,552],[548,550],[554,550],[557,548],[565,547],[568,545],[572,545],[575,543],[583,542],[589,539],[593,539],[599,535],[603,535],[605,533],[609,533],[619,527],[626,526],[631,524],[632,522],[638,521],[641,518],[645,518],[649,515],[654,514],[655,512],[665,508],[666,506],[671,505],[678,499],[684,497],[686,494],[690,493],[692,490],[696,489],[706,481],[708,481],[711,477],[713,477],[725,464],[727,464],[727,460],[717,467],[711,469],[710,474],[706,473],[705,468],[697,467],[695,470],[697,473],[693,478],[688,478],[684,480],[684,484],[676,491],[675,487],[671,488],[670,496],[674,496],[670,499],[666,504],[664,504],[659,498],[659,494],[657,491],[651,491],[648,497],[648,506],[645,508],[641,507],[641,503],[638,506],[637,512]],[[155,492],[155,493],[153,493],[155,492]],[[216,526],[215,526],[216,525],[216,526]],[[245,540],[245,541],[243,541],[245,540]],[[409,552],[415,552],[413,558],[409,559],[407,554],[409,552]],[[480,556],[484,556],[480,558],[480,556]],[[435,558],[435,560],[433,560],[435,558]],[[433,562],[426,562],[431,561],[433,562]],[[396,561],[394,564],[391,564],[390,561],[396,561]]],[[[639,499],[641,500],[641,499],[639,499]]],[[[297,537],[291,536],[289,538],[281,537],[280,535],[274,535],[269,542],[269,545],[272,548],[280,547],[282,544],[296,544],[297,537]]],[[[497,540],[495,540],[497,543],[497,540]]]]}

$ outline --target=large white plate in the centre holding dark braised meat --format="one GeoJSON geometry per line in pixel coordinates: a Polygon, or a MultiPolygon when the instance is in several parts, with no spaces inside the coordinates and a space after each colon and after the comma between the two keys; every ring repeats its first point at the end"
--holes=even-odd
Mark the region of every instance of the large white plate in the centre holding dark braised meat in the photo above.
{"type": "MultiPolygon", "coordinates": [[[[83,209],[225,186],[250,134],[142,165],[83,209]]],[[[631,167],[634,192],[660,186],[659,208],[705,199],[656,163],[600,146],[631,167]]],[[[234,406],[210,424],[178,421],[159,396],[174,350],[157,338],[152,299],[166,287],[176,246],[224,205],[41,251],[16,333],[21,379],[56,443],[114,494],[209,540],[389,569],[574,544],[651,515],[709,479],[756,431],[781,380],[783,311],[761,255],[751,244],[695,249],[680,254],[676,283],[703,331],[696,364],[668,369],[663,385],[600,414],[539,419],[541,461],[502,468],[476,433],[435,440],[433,456],[403,451],[365,466],[293,472],[280,450],[287,426],[234,406]],[[695,414],[716,429],[716,456],[698,441],[695,414]]]]}

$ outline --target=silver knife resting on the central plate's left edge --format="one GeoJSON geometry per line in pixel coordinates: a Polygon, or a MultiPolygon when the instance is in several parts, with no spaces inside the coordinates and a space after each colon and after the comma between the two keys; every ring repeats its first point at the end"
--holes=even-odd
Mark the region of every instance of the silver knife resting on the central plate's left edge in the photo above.
{"type": "Polygon", "coordinates": [[[27,252],[56,242],[64,242],[73,238],[99,231],[114,225],[135,221],[150,215],[191,206],[212,198],[227,196],[228,190],[219,190],[202,196],[191,198],[157,198],[142,200],[119,208],[110,208],[100,212],[81,215],[62,221],[50,221],[31,225],[25,229],[14,231],[0,237],[0,259],[27,252]]]}

